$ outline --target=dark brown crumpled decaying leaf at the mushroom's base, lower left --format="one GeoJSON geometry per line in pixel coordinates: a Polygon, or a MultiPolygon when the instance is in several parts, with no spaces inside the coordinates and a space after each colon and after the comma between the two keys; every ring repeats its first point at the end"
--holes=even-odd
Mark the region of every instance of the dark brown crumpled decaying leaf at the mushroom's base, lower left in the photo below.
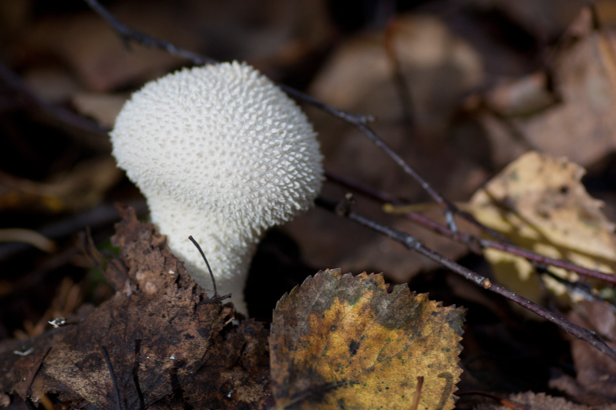
{"type": "Polygon", "coordinates": [[[232,308],[207,299],[154,226],[130,208],[122,213],[112,243],[126,267],[110,263],[106,275],[118,293],[75,325],[0,344],[0,367],[9,369],[0,374],[2,391],[34,402],[54,393],[85,409],[264,407],[262,326],[230,326],[232,308]],[[243,383],[242,394],[227,397],[218,385],[226,373],[243,383]]]}

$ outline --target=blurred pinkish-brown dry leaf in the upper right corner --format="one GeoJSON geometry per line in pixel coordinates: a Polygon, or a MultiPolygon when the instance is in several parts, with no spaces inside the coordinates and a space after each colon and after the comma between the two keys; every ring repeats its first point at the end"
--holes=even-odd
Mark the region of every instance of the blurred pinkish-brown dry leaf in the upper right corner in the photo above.
{"type": "MultiPolygon", "coordinates": [[[[496,157],[509,162],[524,146],[588,167],[616,149],[616,33],[614,29],[591,30],[591,24],[590,10],[582,10],[573,25],[586,26],[584,36],[561,47],[554,57],[553,82],[560,103],[529,117],[509,118],[507,124],[489,115],[481,119],[496,157]],[[524,144],[519,143],[520,138],[524,144]]],[[[521,105],[529,100],[504,101],[502,97],[522,98],[529,80],[538,75],[493,90],[488,103],[495,103],[494,98],[500,95],[500,101],[492,106],[495,111],[528,112],[532,107],[521,105]],[[503,103],[510,105],[504,107],[503,103]]],[[[538,104],[549,100],[545,91],[535,92],[535,96],[538,104]]]]}

